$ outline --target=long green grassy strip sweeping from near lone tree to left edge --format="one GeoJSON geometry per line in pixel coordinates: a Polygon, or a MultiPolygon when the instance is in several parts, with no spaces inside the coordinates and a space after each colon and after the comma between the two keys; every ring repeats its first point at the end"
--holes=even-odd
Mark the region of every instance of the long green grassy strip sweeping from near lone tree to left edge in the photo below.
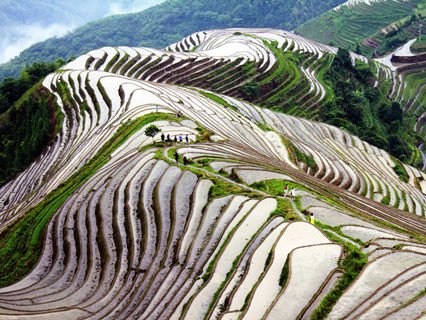
{"type": "Polygon", "coordinates": [[[42,252],[44,232],[54,213],[109,161],[114,150],[148,123],[170,118],[173,116],[154,113],[122,125],[87,164],[5,230],[0,235],[0,287],[11,285],[30,272],[42,252]]]}

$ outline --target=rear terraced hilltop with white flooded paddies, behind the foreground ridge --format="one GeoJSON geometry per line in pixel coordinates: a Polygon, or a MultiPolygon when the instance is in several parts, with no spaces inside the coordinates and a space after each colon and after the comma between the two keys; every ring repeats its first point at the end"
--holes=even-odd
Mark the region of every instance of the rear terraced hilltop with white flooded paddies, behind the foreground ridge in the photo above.
{"type": "Polygon", "coordinates": [[[336,49],[285,31],[244,29],[247,34],[242,34],[238,30],[195,33],[167,51],[102,48],[69,66],[208,89],[292,108],[290,113],[317,111],[315,106],[324,100],[326,89],[316,77],[336,49]]]}

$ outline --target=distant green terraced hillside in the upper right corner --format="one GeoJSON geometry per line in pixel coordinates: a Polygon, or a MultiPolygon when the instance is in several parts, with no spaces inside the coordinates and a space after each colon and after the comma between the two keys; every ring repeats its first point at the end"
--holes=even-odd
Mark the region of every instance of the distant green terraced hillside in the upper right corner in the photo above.
{"type": "MultiPolygon", "coordinates": [[[[393,83],[386,89],[387,94],[412,116],[411,125],[424,137],[426,50],[424,37],[420,42],[415,39],[419,35],[419,25],[426,23],[425,10],[424,1],[348,1],[304,23],[296,33],[374,56],[388,66],[386,72],[393,83]]],[[[335,114],[332,113],[331,118],[335,114]]],[[[392,138],[396,140],[397,137],[392,138]]],[[[383,147],[379,141],[375,144],[383,147]]],[[[417,143],[416,147],[422,145],[423,142],[417,143]]]]}

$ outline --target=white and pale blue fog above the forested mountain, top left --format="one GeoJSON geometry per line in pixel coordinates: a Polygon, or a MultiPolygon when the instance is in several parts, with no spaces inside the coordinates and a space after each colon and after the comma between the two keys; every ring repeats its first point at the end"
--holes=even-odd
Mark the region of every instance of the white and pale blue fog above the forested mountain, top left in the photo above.
{"type": "Polygon", "coordinates": [[[0,63],[12,59],[36,42],[63,36],[90,20],[141,11],[163,1],[1,1],[0,63]]]}

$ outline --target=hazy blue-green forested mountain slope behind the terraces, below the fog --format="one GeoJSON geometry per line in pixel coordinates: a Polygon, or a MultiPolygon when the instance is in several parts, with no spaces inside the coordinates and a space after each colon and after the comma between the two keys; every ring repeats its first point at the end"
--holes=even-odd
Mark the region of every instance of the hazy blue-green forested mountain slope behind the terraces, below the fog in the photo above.
{"type": "MultiPolygon", "coordinates": [[[[230,27],[292,30],[343,0],[213,1],[171,0],[154,8],[91,22],[60,38],[37,43],[0,65],[0,79],[16,77],[35,61],[68,60],[103,46],[163,48],[199,31],[230,27]]],[[[104,5],[100,6],[101,8],[104,5]]]]}

